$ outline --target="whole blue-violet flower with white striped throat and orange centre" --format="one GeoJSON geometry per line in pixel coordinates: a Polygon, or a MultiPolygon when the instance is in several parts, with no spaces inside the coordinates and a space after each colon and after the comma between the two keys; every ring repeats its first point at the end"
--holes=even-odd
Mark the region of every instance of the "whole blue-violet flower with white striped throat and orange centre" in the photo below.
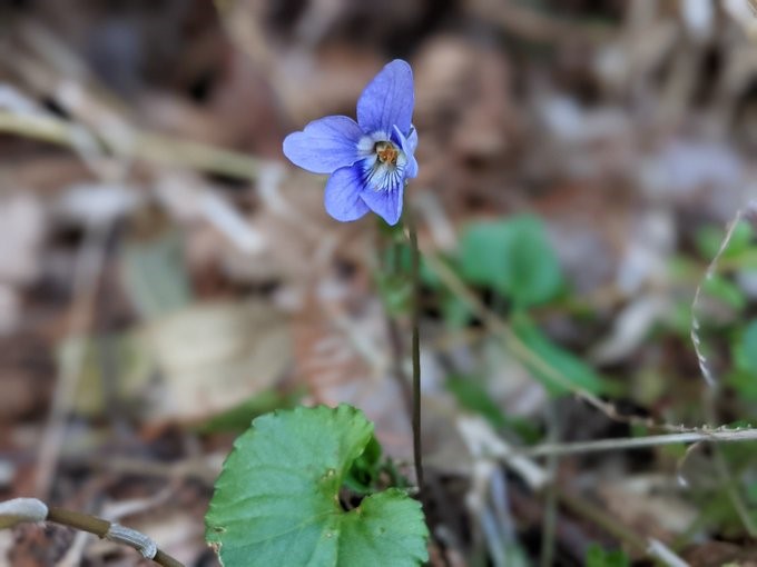
{"type": "Polygon", "coordinates": [[[413,102],[413,71],[395,59],[363,90],[357,122],[328,116],[284,140],[294,165],[331,173],[324,205],[336,220],[357,220],[370,210],[390,225],[400,220],[405,183],[417,175],[413,102]]]}

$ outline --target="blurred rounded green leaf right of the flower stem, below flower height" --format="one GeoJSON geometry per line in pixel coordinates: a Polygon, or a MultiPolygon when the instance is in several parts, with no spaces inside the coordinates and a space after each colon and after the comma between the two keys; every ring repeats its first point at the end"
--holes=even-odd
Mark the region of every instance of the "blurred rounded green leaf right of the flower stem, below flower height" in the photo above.
{"type": "Polygon", "coordinates": [[[461,237],[460,267],[466,281],[499,291],[515,307],[544,304],[563,286],[544,225],[533,216],[469,225],[461,237]]]}

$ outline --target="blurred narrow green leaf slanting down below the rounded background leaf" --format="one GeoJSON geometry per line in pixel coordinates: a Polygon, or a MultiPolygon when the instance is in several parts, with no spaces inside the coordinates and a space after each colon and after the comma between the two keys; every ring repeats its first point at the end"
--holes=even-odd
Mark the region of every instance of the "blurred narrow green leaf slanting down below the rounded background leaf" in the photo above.
{"type": "Polygon", "coordinates": [[[512,327],[520,340],[522,340],[549,368],[564,377],[562,382],[545,371],[541,365],[528,365],[529,370],[544,385],[552,396],[569,394],[571,387],[587,390],[591,394],[600,394],[604,384],[600,376],[580,358],[552,342],[533,321],[524,314],[518,314],[512,319],[512,327]]]}

